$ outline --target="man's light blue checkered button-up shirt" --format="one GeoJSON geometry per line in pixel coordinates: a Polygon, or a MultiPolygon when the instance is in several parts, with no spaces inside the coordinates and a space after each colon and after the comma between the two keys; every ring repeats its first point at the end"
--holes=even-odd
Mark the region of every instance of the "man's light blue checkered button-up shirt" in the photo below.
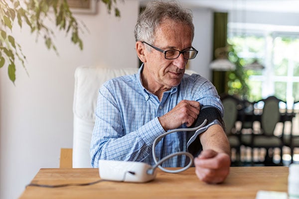
{"type": "MultiPolygon", "coordinates": [[[[181,100],[196,100],[201,105],[223,106],[211,82],[197,74],[185,74],[181,83],[163,93],[161,101],[147,91],[141,72],[107,81],[99,91],[96,121],[91,139],[91,164],[99,160],[139,161],[154,165],[151,154],[154,139],[164,133],[158,117],[169,112],[181,100]]],[[[186,128],[183,124],[180,128],[186,128]]],[[[161,159],[178,151],[186,151],[188,132],[170,133],[156,145],[161,159]]],[[[184,167],[189,159],[175,156],[162,167],[184,167]]]]}

